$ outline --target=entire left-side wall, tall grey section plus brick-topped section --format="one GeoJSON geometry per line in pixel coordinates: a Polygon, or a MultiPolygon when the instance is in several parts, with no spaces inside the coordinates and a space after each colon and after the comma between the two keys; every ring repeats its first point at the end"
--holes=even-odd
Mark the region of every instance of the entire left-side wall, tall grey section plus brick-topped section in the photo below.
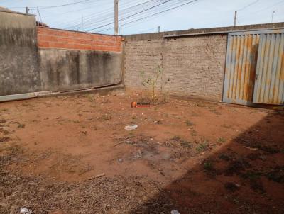
{"type": "Polygon", "coordinates": [[[0,11],[0,96],[119,84],[120,36],[37,28],[35,17],[0,11]]]}

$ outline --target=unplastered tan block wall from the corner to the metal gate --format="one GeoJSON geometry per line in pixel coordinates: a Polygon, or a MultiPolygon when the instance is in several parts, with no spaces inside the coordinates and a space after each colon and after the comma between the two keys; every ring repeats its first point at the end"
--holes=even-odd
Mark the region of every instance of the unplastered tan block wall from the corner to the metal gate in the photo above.
{"type": "Polygon", "coordinates": [[[141,71],[153,74],[163,67],[158,89],[167,94],[222,100],[226,61],[226,34],[187,38],[126,40],[124,83],[126,89],[145,89],[141,71]]]}

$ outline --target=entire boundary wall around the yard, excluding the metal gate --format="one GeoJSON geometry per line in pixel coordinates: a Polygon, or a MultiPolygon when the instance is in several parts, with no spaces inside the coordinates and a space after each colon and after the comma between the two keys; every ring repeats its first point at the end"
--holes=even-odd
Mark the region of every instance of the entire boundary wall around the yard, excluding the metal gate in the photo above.
{"type": "Polygon", "coordinates": [[[0,20],[0,96],[122,81],[126,89],[145,90],[143,77],[153,76],[159,66],[163,74],[158,90],[212,101],[222,99],[227,32],[284,26],[273,23],[128,35],[123,48],[121,36],[36,28],[35,17],[27,14],[0,11],[0,20]],[[187,33],[193,35],[185,36],[187,33]],[[183,36],[164,38],[167,35],[183,36]]]}

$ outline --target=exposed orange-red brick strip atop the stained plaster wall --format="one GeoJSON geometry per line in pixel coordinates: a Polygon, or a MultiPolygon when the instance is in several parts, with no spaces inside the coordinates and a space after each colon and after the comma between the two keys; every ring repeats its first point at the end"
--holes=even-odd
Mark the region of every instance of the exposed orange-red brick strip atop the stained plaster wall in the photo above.
{"type": "Polygon", "coordinates": [[[121,36],[38,27],[38,47],[121,52],[121,36]]]}

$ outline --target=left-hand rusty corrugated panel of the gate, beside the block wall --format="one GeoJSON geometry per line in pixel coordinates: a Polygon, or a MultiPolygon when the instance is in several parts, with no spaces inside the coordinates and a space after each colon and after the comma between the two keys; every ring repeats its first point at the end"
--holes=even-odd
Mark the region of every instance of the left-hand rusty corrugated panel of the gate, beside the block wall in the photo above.
{"type": "Polygon", "coordinates": [[[259,35],[258,31],[229,33],[224,78],[224,102],[251,104],[259,35]]]}

